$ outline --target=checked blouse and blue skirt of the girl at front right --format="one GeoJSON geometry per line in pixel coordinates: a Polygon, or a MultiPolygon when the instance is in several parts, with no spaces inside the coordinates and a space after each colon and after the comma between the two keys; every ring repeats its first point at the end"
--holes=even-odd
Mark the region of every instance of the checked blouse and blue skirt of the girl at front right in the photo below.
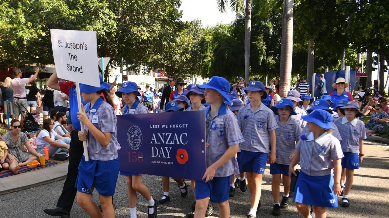
{"type": "Polygon", "coordinates": [[[300,137],[296,150],[300,152],[301,171],[294,188],[294,201],[313,206],[334,208],[338,197],[333,192],[333,160],[343,157],[340,142],[327,132],[314,140],[314,133],[300,137]]]}

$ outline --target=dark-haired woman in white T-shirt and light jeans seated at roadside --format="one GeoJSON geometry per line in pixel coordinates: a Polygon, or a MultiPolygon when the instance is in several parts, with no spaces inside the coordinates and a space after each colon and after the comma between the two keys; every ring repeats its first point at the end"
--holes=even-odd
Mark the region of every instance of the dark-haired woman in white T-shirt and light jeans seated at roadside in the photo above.
{"type": "Polygon", "coordinates": [[[37,132],[37,151],[42,153],[44,147],[49,147],[49,157],[58,154],[61,150],[69,152],[69,137],[62,137],[54,131],[54,120],[47,118],[43,121],[43,128],[37,132]]]}

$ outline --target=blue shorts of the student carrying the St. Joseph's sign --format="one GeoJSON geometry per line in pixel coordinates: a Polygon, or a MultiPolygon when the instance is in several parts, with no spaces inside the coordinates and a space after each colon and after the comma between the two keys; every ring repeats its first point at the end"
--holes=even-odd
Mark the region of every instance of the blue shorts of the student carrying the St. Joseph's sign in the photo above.
{"type": "Polygon", "coordinates": [[[89,159],[87,162],[85,156],[82,156],[78,170],[75,182],[77,191],[92,195],[91,187],[93,186],[102,196],[115,194],[119,175],[119,158],[110,161],[89,159]]]}

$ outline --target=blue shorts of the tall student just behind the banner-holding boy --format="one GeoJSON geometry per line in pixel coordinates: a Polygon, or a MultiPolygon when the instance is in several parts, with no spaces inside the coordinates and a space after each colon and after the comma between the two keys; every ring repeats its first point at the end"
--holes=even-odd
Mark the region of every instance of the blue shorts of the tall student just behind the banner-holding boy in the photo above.
{"type": "Polygon", "coordinates": [[[268,153],[244,151],[240,152],[240,172],[252,172],[264,174],[266,163],[268,160],[268,153]]]}

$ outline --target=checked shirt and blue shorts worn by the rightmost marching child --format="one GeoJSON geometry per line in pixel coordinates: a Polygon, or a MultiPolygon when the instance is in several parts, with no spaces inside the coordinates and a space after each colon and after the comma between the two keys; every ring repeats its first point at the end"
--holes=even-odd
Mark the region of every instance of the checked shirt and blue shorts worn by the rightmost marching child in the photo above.
{"type": "Polygon", "coordinates": [[[358,118],[351,122],[346,117],[335,120],[340,134],[340,140],[344,157],[342,158],[342,169],[359,169],[359,140],[366,139],[366,130],[363,121],[358,118]]]}

